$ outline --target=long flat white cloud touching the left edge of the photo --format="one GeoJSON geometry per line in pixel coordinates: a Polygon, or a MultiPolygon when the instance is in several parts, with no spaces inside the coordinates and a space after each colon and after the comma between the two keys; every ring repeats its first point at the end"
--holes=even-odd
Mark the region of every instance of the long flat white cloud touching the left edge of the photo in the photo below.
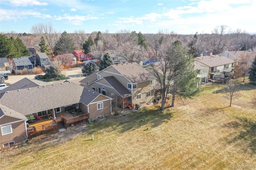
{"type": "Polygon", "coordinates": [[[34,10],[5,10],[1,9],[1,18],[0,21],[9,21],[9,20],[18,20],[24,18],[52,18],[52,16],[48,14],[41,14],[40,12],[36,12],[34,10]]]}

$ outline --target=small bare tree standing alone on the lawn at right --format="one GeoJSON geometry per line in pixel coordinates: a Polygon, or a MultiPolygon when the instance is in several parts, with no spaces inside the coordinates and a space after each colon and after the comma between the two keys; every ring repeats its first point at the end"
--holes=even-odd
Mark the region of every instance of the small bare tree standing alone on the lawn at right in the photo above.
{"type": "Polygon", "coordinates": [[[240,97],[240,83],[238,80],[230,80],[224,86],[223,91],[226,97],[230,100],[230,107],[233,99],[240,97]]]}

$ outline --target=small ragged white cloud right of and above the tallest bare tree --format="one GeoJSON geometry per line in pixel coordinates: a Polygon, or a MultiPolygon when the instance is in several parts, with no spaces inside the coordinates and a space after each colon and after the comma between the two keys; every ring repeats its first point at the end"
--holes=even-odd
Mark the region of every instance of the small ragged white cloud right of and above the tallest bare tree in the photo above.
{"type": "Polygon", "coordinates": [[[78,16],[78,15],[70,16],[69,14],[64,14],[64,16],[54,16],[54,20],[57,20],[57,21],[66,20],[71,25],[81,25],[81,24],[83,24],[82,21],[95,20],[95,19],[99,19],[99,18],[92,17],[90,15],[88,15],[88,16],[78,16]]]}

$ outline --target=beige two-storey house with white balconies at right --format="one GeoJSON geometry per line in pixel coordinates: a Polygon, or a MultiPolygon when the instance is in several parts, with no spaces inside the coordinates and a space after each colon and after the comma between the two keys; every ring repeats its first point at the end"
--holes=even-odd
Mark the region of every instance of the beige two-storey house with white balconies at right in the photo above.
{"type": "Polygon", "coordinates": [[[232,77],[234,70],[234,61],[220,55],[206,55],[201,54],[200,57],[195,57],[194,65],[203,67],[202,72],[207,73],[206,82],[212,79],[224,79],[232,77]]]}

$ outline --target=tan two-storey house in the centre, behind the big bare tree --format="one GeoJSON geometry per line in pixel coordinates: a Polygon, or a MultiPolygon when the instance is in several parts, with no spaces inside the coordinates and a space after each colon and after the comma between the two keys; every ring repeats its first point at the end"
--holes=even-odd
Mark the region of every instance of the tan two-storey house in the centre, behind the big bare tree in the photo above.
{"type": "Polygon", "coordinates": [[[137,63],[110,65],[93,74],[80,84],[103,95],[118,97],[123,108],[147,103],[154,96],[154,76],[137,63]]]}

